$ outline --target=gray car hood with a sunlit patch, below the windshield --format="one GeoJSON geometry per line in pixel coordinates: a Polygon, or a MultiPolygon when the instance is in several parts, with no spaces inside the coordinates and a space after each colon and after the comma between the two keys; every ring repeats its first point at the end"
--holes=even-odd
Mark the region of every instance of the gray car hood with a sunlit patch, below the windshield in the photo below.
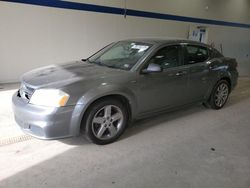
{"type": "Polygon", "coordinates": [[[126,71],[112,69],[82,61],[64,65],[49,65],[34,69],[22,76],[22,82],[34,89],[60,88],[68,84],[90,79],[105,79],[126,71]]]}

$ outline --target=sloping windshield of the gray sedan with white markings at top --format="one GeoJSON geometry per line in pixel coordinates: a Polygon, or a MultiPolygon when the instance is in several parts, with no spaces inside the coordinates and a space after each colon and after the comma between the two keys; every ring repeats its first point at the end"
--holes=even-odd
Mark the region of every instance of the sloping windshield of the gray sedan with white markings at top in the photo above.
{"type": "Polygon", "coordinates": [[[130,70],[151,46],[141,42],[121,41],[111,47],[107,46],[88,60],[111,68],[130,70]]]}

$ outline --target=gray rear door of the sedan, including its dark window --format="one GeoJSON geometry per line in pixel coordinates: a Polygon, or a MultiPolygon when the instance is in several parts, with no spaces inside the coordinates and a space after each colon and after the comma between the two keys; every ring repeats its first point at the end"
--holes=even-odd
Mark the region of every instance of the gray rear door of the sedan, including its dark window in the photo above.
{"type": "Polygon", "coordinates": [[[188,100],[204,99],[209,87],[209,51],[205,46],[185,45],[184,62],[189,67],[188,100]]]}

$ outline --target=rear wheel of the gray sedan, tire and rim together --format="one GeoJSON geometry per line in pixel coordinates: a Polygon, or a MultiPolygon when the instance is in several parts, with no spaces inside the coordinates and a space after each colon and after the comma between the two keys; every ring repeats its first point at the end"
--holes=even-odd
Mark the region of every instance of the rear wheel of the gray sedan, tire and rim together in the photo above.
{"type": "Polygon", "coordinates": [[[228,81],[226,80],[220,80],[215,85],[210,99],[209,99],[209,106],[212,109],[219,110],[223,108],[223,106],[226,104],[228,97],[230,93],[230,86],[228,81]]]}

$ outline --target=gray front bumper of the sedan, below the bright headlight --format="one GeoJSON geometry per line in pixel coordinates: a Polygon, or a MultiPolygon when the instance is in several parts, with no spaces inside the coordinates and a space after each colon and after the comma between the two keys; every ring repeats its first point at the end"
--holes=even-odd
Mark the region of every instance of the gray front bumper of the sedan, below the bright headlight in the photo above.
{"type": "Polygon", "coordinates": [[[44,107],[29,104],[17,96],[12,97],[12,106],[17,124],[27,134],[40,139],[57,139],[75,136],[72,118],[75,106],[44,107]]]}

